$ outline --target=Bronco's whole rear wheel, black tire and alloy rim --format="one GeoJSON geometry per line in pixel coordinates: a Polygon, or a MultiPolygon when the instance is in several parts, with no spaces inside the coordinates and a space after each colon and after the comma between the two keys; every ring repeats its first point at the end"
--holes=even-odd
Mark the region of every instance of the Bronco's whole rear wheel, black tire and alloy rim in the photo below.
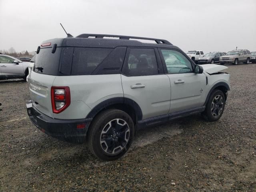
{"type": "Polygon", "coordinates": [[[134,132],[134,123],[126,112],[117,109],[105,110],[90,125],[88,148],[94,156],[102,160],[116,160],[130,148],[134,132]]]}

